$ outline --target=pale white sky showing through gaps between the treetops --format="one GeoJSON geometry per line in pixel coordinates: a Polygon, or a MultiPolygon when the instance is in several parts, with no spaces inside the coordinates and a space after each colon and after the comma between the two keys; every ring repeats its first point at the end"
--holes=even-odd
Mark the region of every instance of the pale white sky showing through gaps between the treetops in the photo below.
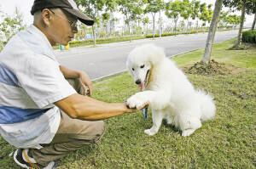
{"type": "MultiPolygon", "coordinates": [[[[34,0],[0,0],[0,9],[6,13],[9,14],[9,16],[12,16],[15,13],[15,7],[17,7],[21,14],[23,14],[24,21],[26,25],[32,24],[32,15],[30,14],[30,10],[32,7],[32,3],[34,0]]],[[[200,0],[201,3],[215,3],[215,0],[200,0]]],[[[213,9],[213,8],[212,8],[213,9]]],[[[236,13],[237,15],[240,15],[240,12],[236,13]]],[[[253,15],[247,15],[246,16],[247,21],[246,25],[253,23],[253,15]]]]}

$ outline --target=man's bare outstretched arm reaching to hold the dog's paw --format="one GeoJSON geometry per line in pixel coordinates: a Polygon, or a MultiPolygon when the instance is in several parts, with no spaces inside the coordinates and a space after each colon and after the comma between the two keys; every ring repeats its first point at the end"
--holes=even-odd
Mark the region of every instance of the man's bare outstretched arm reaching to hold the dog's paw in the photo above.
{"type": "Polygon", "coordinates": [[[129,109],[125,103],[108,104],[78,93],[55,102],[55,105],[71,118],[87,121],[104,120],[116,115],[137,111],[129,109]]]}

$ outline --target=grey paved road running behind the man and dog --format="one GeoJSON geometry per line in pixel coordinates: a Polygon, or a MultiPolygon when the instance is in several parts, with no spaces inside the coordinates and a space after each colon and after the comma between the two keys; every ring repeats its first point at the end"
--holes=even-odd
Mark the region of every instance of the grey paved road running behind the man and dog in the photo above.
{"type": "MultiPolygon", "coordinates": [[[[237,31],[217,32],[216,42],[224,42],[236,37],[237,31]]],[[[179,35],[177,37],[162,37],[143,39],[133,42],[114,42],[98,45],[96,48],[71,48],[69,51],[55,51],[61,65],[75,70],[84,70],[91,79],[96,80],[102,76],[110,76],[125,70],[125,60],[129,52],[138,45],[154,43],[165,48],[166,55],[172,56],[184,52],[205,48],[207,33],[193,35],[179,35]]]]}

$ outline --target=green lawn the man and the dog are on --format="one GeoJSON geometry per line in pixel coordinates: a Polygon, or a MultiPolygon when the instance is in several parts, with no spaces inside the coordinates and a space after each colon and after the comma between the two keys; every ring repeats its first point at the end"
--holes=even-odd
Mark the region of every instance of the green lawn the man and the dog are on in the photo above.
{"type": "MultiPolygon", "coordinates": [[[[152,126],[151,112],[119,115],[105,121],[100,144],[67,155],[58,168],[255,168],[256,49],[232,51],[235,40],[214,46],[212,59],[236,65],[245,72],[229,76],[188,75],[195,85],[212,93],[217,115],[188,138],[174,127],[162,125],[154,136],[143,133],[152,126]]],[[[179,55],[183,66],[201,60],[203,50],[179,55]]],[[[138,92],[128,73],[95,82],[94,98],[123,102],[138,92]]],[[[0,138],[0,168],[19,168],[9,153],[15,148],[0,138]]]]}

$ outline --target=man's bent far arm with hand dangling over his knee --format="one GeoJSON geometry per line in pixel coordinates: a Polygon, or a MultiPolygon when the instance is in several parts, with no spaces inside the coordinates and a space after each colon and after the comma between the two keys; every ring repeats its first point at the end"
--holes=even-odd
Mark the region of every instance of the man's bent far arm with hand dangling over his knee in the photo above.
{"type": "MultiPolygon", "coordinates": [[[[84,88],[84,91],[87,90],[87,87],[89,87],[89,95],[92,95],[93,92],[93,86],[92,82],[90,81],[90,76],[88,76],[85,72],[83,71],[78,71],[78,70],[71,70],[68,69],[67,67],[60,65],[60,70],[65,78],[79,78],[79,81],[82,84],[82,87],[84,88]]],[[[85,92],[86,93],[86,92],[85,92]]]]}

